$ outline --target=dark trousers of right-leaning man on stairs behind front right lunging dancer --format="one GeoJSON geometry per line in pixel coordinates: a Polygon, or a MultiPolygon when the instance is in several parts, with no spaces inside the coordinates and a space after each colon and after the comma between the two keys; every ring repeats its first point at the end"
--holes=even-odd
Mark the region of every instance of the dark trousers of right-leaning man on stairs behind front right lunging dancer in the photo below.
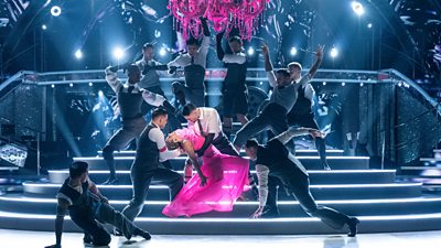
{"type": "MultiPolygon", "coordinates": [[[[233,143],[243,147],[248,139],[268,129],[270,129],[275,136],[288,130],[287,110],[282,106],[273,103],[267,105],[263,110],[237,131],[233,143]]],[[[292,141],[290,141],[287,147],[290,150],[295,149],[292,141]]]]}

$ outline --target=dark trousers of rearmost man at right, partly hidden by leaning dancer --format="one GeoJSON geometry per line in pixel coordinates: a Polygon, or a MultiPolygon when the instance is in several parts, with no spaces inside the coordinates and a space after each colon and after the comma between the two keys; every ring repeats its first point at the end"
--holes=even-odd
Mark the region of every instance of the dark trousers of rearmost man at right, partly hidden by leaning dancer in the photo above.
{"type": "MultiPolygon", "coordinates": [[[[305,115],[288,115],[288,125],[319,130],[319,125],[312,112],[305,115]]],[[[315,148],[318,149],[320,161],[322,164],[326,164],[326,145],[323,138],[315,138],[315,148]]]]}

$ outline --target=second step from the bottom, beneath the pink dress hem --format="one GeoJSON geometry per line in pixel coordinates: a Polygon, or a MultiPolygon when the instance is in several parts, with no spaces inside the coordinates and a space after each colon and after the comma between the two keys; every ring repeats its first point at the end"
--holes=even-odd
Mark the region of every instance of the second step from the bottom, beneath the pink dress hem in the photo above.
{"type": "MultiPolygon", "coordinates": [[[[140,217],[164,217],[161,212],[168,201],[146,201],[140,217]]],[[[438,213],[441,208],[441,198],[416,197],[391,200],[338,200],[318,201],[319,205],[338,209],[347,215],[407,215],[438,213]]],[[[110,201],[110,205],[117,211],[122,211],[129,201],[110,201]]],[[[192,216],[194,218],[240,218],[250,216],[258,207],[258,202],[236,202],[233,212],[211,212],[192,216]]],[[[297,201],[280,201],[278,203],[280,217],[308,217],[297,201]]],[[[56,209],[55,198],[34,198],[4,195],[0,196],[0,211],[21,214],[54,214],[56,209]]]]}

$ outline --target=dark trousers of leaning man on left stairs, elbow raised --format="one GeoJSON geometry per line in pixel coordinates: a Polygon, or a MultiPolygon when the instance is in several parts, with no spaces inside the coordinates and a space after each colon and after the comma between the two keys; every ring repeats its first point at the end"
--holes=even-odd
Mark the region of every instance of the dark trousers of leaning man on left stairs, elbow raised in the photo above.
{"type": "Polygon", "coordinates": [[[114,151],[120,151],[125,149],[130,141],[138,139],[146,126],[147,122],[142,117],[123,120],[122,128],[107,141],[106,147],[103,149],[103,158],[109,168],[110,177],[116,177],[114,151]]]}

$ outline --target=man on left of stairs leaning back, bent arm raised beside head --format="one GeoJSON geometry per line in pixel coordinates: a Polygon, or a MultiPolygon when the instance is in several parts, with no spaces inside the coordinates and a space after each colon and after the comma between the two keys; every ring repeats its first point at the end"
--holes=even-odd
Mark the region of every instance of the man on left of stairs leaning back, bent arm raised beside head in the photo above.
{"type": "Polygon", "coordinates": [[[128,80],[122,84],[117,77],[118,66],[109,66],[106,68],[106,80],[117,94],[117,101],[122,117],[122,128],[119,129],[107,141],[103,149],[103,157],[109,166],[110,177],[105,184],[114,184],[117,182],[114,151],[125,149],[130,141],[139,138],[147,122],[141,114],[141,105],[147,101],[152,106],[163,106],[166,109],[173,108],[166,99],[158,94],[141,89],[138,83],[141,77],[141,71],[136,64],[126,65],[128,80]]]}

